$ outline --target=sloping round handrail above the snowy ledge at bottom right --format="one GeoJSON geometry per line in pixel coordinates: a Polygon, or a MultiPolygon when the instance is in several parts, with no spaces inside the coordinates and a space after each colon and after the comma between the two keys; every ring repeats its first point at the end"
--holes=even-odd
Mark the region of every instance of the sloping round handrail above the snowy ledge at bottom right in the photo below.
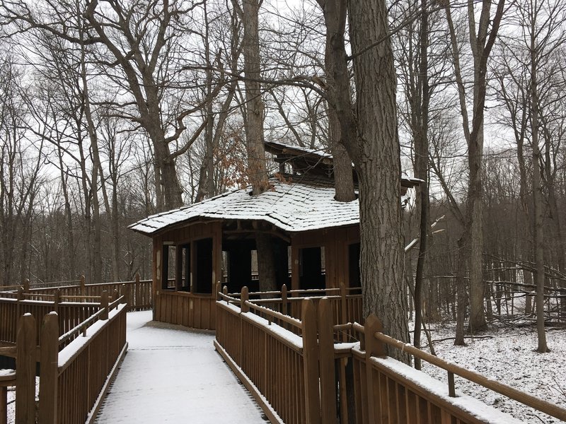
{"type": "Polygon", "coordinates": [[[386,334],[376,332],[374,334],[374,337],[382,343],[386,343],[389,346],[393,346],[400,349],[401,351],[410,353],[416,358],[426,360],[428,363],[431,363],[432,365],[436,365],[443,370],[452,372],[456,375],[459,375],[460,377],[468,379],[470,382],[480,384],[480,386],[483,386],[492,391],[496,391],[499,394],[519,401],[521,402],[521,404],[535,408],[538,411],[546,413],[549,416],[553,416],[554,418],[558,418],[559,420],[566,420],[566,409],[560,408],[560,406],[550,404],[550,402],[543,401],[543,399],[538,399],[536,396],[524,393],[523,391],[508,386],[507,384],[503,384],[484,377],[478,372],[466,370],[465,368],[462,368],[454,363],[438,358],[437,356],[431,355],[430,353],[421,351],[420,349],[415,348],[415,346],[412,346],[409,343],[403,343],[402,341],[398,341],[395,338],[387,336],[386,334]]]}

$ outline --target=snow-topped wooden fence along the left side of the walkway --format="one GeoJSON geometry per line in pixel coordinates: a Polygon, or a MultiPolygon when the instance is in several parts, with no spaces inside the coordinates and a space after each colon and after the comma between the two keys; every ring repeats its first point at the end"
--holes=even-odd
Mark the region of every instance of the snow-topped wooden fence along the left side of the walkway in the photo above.
{"type": "Polygon", "coordinates": [[[16,387],[16,424],[93,422],[127,351],[124,300],[120,297],[109,303],[103,293],[98,310],[64,334],[57,312],[43,317],[40,331],[32,314],[18,319],[16,345],[0,348],[0,354],[16,358],[16,372],[0,374],[0,424],[7,420],[7,386],[16,387]],[[36,405],[37,363],[40,389],[36,405]]]}

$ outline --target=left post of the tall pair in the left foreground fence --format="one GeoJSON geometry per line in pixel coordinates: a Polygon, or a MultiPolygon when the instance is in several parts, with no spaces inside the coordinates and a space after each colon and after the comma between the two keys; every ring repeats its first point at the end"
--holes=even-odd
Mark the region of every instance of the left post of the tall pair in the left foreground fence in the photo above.
{"type": "Polygon", "coordinates": [[[16,424],[35,424],[35,318],[24,314],[16,336],[16,424]]]}

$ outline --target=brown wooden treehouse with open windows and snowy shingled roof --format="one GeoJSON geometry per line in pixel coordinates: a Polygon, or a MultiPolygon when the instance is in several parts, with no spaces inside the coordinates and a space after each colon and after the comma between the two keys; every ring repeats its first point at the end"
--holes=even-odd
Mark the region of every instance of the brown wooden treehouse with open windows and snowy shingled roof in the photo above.
{"type": "MultiPolygon", "coordinates": [[[[277,287],[294,295],[340,285],[359,292],[359,202],[334,199],[332,156],[280,143],[266,148],[280,164],[267,192],[236,189],[129,226],[153,238],[155,320],[216,329],[219,284],[230,293],[259,290],[259,232],[272,242],[277,287]]],[[[402,194],[418,181],[400,179],[402,194]]]]}

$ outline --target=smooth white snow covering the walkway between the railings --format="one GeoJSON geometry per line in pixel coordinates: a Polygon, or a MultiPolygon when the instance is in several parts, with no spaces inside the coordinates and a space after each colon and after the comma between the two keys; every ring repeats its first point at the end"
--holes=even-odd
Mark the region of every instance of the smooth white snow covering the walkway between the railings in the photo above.
{"type": "Polygon", "coordinates": [[[128,353],[96,423],[266,423],[212,346],[212,331],[127,314],[128,353]],[[148,324],[149,323],[149,324],[148,324]]]}

